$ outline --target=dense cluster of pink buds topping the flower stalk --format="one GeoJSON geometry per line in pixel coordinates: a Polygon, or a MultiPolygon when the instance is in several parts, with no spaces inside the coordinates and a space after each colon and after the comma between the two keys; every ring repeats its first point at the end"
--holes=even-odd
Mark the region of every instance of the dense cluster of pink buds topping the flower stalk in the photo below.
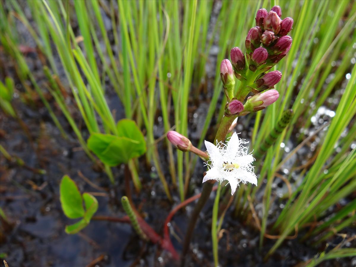
{"type": "Polygon", "coordinates": [[[292,46],[292,38],[288,32],[292,30],[293,19],[281,19],[281,7],[273,6],[271,11],[259,9],[256,14],[256,27],[248,31],[245,45],[246,54],[239,47],[231,49],[229,59],[224,59],[220,66],[221,80],[227,98],[225,115],[244,115],[252,111],[264,109],[279,97],[273,89],[282,78],[278,70],[268,72],[283,57],[292,46]],[[240,88],[234,90],[234,75],[241,81],[240,88]],[[235,93],[234,93],[235,91],[235,93]],[[250,97],[245,104],[247,94],[250,97]]]}

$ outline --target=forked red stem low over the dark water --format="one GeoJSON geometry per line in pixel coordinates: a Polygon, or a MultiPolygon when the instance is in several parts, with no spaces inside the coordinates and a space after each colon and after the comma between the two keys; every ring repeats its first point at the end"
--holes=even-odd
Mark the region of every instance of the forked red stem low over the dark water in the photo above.
{"type": "MultiPolygon", "coordinates": [[[[216,189],[218,189],[217,186],[213,187],[212,191],[215,191],[216,189]]],[[[168,214],[166,220],[164,221],[163,238],[160,235],[158,235],[157,232],[155,230],[153,230],[153,228],[148,223],[146,223],[146,221],[143,220],[140,215],[138,215],[136,213],[138,224],[140,224],[142,231],[147,235],[147,237],[151,240],[151,242],[153,244],[158,243],[163,249],[169,251],[175,260],[179,259],[179,255],[178,255],[177,251],[175,250],[175,248],[173,247],[171,239],[169,238],[168,223],[172,220],[174,214],[176,214],[176,212],[178,210],[180,210],[184,206],[188,205],[189,203],[193,202],[194,200],[200,198],[200,195],[201,195],[201,193],[184,200],[182,203],[180,203],[176,207],[174,207],[173,210],[171,210],[171,212],[168,214]]],[[[121,218],[115,218],[115,217],[110,217],[110,216],[94,216],[92,219],[93,220],[104,220],[104,221],[115,221],[117,223],[127,223],[127,224],[131,223],[129,216],[124,216],[121,218]]]]}

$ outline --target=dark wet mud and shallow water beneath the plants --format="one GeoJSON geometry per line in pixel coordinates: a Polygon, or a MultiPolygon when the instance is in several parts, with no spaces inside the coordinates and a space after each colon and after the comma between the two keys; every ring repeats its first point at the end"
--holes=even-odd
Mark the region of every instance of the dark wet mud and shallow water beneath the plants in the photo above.
{"type": "MultiPolygon", "coordinates": [[[[215,66],[216,54],[213,50],[210,62],[212,62],[212,66],[215,66]]],[[[36,54],[29,53],[27,60],[36,78],[41,81],[43,74],[36,67],[39,66],[36,54]]],[[[16,80],[11,59],[5,54],[1,54],[1,61],[3,72],[1,79],[4,78],[4,75],[10,75],[16,80]]],[[[211,73],[214,72],[211,71],[211,73]]],[[[208,107],[212,94],[211,84],[213,83],[211,81],[214,77],[210,74],[207,75],[206,84],[202,87],[206,92],[198,94],[198,97],[189,104],[189,118],[192,118],[189,121],[191,127],[189,132],[193,143],[197,143],[200,137],[201,122],[205,119],[204,111],[208,107]]],[[[63,78],[64,84],[65,80],[63,78]]],[[[91,192],[95,195],[99,201],[96,215],[122,217],[125,215],[120,204],[120,198],[125,194],[124,169],[123,167],[113,169],[115,184],[111,184],[106,174],[85,155],[51,96],[47,95],[47,98],[66,131],[67,139],[61,135],[47,109],[36,98],[36,95],[34,95],[35,102],[32,104],[23,103],[24,96],[24,89],[19,80],[16,80],[13,105],[26,125],[25,128],[28,129],[29,135],[17,120],[6,116],[1,110],[1,145],[10,155],[20,157],[28,167],[45,169],[46,174],[38,174],[28,168],[20,167],[1,155],[0,206],[9,223],[1,221],[0,255],[1,257],[5,256],[9,266],[177,266],[177,262],[172,260],[168,252],[162,251],[158,245],[141,241],[128,224],[93,220],[79,234],[67,235],[64,232],[65,225],[72,224],[73,220],[68,219],[61,209],[59,183],[62,176],[68,174],[77,183],[81,192],[91,192]],[[78,172],[104,190],[98,190],[91,186],[78,172]]],[[[120,101],[110,87],[107,99],[110,109],[115,110],[116,120],[123,118],[124,111],[120,101]]],[[[74,100],[71,98],[69,101],[72,103],[70,106],[72,115],[82,126],[84,138],[87,139],[88,132],[75,108],[74,100]]],[[[329,119],[330,117],[325,117],[325,121],[329,119]]],[[[214,121],[212,125],[214,125],[214,121]]],[[[319,126],[319,124],[312,125],[315,129],[319,126]]],[[[243,138],[249,139],[252,127],[253,119],[246,117],[239,121],[236,130],[241,132],[243,138]]],[[[214,132],[214,128],[211,128],[210,132],[214,132]]],[[[162,119],[158,115],[155,137],[158,138],[162,134],[162,119]]],[[[297,134],[294,133],[295,140],[287,143],[286,147],[292,149],[295,146],[297,134]]],[[[168,162],[166,162],[163,142],[160,142],[158,146],[163,172],[168,183],[172,184],[166,167],[168,162]]],[[[285,152],[287,153],[287,150],[285,152]]],[[[301,151],[300,153],[307,152],[301,151]]],[[[289,164],[294,164],[297,160],[303,163],[298,155],[293,160],[289,164]]],[[[139,195],[133,192],[133,201],[139,207],[147,223],[159,234],[162,234],[164,218],[172,207],[180,202],[178,192],[171,186],[174,203],[169,203],[155,168],[148,166],[145,157],[141,157],[139,162],[143,190],[139,195]]],[[[198,160],[191,179],[190,196],[201,191],[202,169],[203,163],[198,160]]],[[[287,190],[283,183],[281,185],[276,183],[276,187],[276,195],[287,190]]],[[[187,266],[212,266],[210,229],[214,197],[215,193],[212,193],[204,211],[200,214],[186,261],[187,266]]],[[[272,215],[280,213],[283,203],[285,202],[278,199],[271,203],[272,215]]],[[[178,252],[182,249],[181,240],[184,237],[193,205],[194,203],[188,205],[184,210],[178,211],[171,221],[171,240],[178,252]]],[[[261,209],[261,206],[256,206],[257,212],[261,212],[261,209]]],[[[222,225],[224,232],[219,242],[221,266],[295,266],[324,251],[325,243],[314,248],[308,243],[300,243],[297,238],[285,241],[267,262],[263,262],[263,256],[275,241],[266,239],[260,250],[258,246],[260,232],[251,223],[253,220],[250,218],[250,220],[241,221],[235,218],[233,213],[234,209],[230,207],[222,225]]],[[[355,234],[356,231],[347,228],[345,232],[355,234]]],[[[303,236],[303,232],[299,234],[303,236]]],[[[341,236],[329,240],[327,251],[341,241],[341,236]]],[[[355,244],[350,245],[355,246],[355,244]]],[[[350,259],[331,260],[323,262],[321,266],[346,267],[350,266],[350,259]]]]}

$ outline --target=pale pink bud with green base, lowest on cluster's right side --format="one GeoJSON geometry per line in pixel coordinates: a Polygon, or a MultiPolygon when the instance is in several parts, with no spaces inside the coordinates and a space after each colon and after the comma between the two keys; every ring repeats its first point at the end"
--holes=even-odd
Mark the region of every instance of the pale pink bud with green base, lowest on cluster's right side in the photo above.
{"type": "Polygon", "coordinates": [[[245,105],[244,110],[240,112],[240,115],[248,114],[252,111],[259,111],[265,109],[266,106],[269,106],[277,101],[279,93],[277,90],[268,90],[264,93],[255,94],[250,96],[245,105]]]}

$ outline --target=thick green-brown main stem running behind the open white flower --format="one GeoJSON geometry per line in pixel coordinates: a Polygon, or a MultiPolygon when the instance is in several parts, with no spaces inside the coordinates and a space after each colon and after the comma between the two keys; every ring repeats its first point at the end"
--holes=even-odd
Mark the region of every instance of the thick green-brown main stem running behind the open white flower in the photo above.
{"type": "MultiPolygon", "coordinates": [[[[239,101],[244,101],[244,99],[246,98],[246,95],[248,94],[248,91],[244,90],[244,88],[245,88],[245,84],[241,83],[241,85],[237,91],[238,93],[235,96],[239,101]]],[[[223,117],[223,119],[220,122],[218,131],[216,132],[216,135],[214,138],[216,143],[219,143],[219,142],[225,140],[226,134],[229,131],[229,128],[236,117],[237,116],[231,116],[231,117],[224,116],[223,117]]],[[[209,181],[204,183],[203,190],[201,191],[201,197],[199,198],[198,203],[197,203],[197,205],[195,205],[192,215],[190,216],[189,224],[187,227],[187,232],[185,234],[184,242],[183,242],[183,250],[182,250],[181,262],[180,262],[181,266],[184,266],[185,255],[188,252],[190,239],[192,238],[192,234],[193,234],[193,231],[195,228],[195,224],[197,223],[199,213],[203,209],[206,201],[208,201],[212,188],[213,188],[213,184],[210,183],[209,181]]]]}

